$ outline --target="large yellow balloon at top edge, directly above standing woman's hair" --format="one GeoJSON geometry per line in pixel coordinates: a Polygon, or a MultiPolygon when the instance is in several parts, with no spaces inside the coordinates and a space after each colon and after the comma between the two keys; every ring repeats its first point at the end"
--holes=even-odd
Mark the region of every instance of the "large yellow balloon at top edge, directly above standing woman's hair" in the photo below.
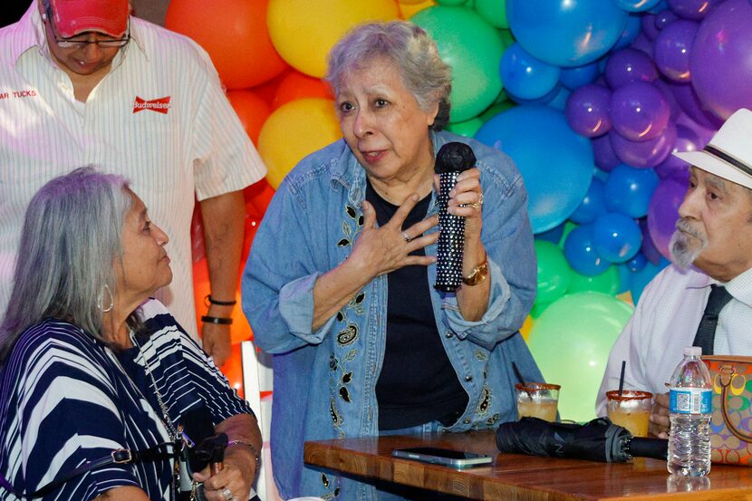
{"type": "Polygon", "coordinates": [[[322,78],[326,54],[345,32],[366,21],[399,16],[394,0],[270,0],[266,24],[284,61],[322,78]]]}

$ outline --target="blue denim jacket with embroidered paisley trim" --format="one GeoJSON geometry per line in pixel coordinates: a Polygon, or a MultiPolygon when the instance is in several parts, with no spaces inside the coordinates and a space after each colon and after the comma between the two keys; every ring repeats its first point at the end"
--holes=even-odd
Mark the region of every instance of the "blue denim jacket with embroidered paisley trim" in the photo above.
{"type": "MultiPolygon", "coordinates": [[[[454,294],[427,284],[448,359],[468,392],[468,408],[448,431],[516,419],[512,361],[542,381],[518,330],[535,298],[533,233],[527,193],[514,162],[497,149],[448,132],[432,133],[475,151],[484,193],[481,240],[487,251],[487,312],[468,322],[454,294]]],[[[374,278],[312,331],[313,284],[352,252],[362,229],[365,170],[344,140],[303,159],[284,178],[255,235],[243,275],[243,310],[256,345],[274,354],[272,460],[282,496],[373,499],[372,487],[304,467],[305,440],[378,436],[375,387],[386,341],[387,277],[374,278]]],[[[437,211],[436,197],[429,215],[437,211]]],[[[433,228],[431,231],[437,231],[433,228]]],[[[436,255],[436,246],[426,248],[436,255]]]]}

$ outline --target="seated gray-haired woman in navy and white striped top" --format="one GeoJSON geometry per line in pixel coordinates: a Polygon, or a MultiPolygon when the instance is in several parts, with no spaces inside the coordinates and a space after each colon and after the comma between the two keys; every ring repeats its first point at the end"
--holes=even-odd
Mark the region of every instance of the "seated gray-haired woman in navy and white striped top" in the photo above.
{"type": "Polygon", "coordinates": [[[174,458],[110,458],[175,441],[196,420],[229,445],[221,470],[193,478],[210,501],[248,499],[253,412],[149,299],[172,279],[167,242],[119,176],[76,169],[32,199],[0,324],[0,499],[45,486],[44,499],[177,497],[174,458]]]}

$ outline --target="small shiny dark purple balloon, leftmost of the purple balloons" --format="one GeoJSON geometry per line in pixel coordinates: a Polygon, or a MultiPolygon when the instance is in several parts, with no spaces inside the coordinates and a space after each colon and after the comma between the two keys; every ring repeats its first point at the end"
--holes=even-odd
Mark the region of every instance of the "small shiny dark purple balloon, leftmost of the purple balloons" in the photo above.
{"type": "Polygon", "coordinates": [[[583,85],[566,101],[566,121],[578,134],[588,138],[603,136],[611,130],[610,102],[611,91],[602,85],[583,85]]]}

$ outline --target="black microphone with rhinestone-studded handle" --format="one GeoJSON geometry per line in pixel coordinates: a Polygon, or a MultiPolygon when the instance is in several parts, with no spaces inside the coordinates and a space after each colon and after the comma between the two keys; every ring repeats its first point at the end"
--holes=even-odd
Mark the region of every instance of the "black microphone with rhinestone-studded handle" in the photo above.
{"type": "Polygon", "coordinates": [[[436,155],[439,174],[439,244],[436,251],[434,288],[451,293],[462,284],[462,251],[465,247],[465,218],[448,213],[449,191],[463,170],[471,169],[476,156],[464,142],[448,142],[436,155]]]}

